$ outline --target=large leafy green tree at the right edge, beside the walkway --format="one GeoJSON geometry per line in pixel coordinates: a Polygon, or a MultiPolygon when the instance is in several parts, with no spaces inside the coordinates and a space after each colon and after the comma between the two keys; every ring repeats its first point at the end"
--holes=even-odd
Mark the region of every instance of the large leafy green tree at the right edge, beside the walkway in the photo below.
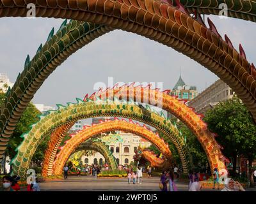
{"type": "Polygon", "coordinates": [[[236,171],[236,157],[244,155],[252,175],[252,161],[256,156],[256,126],[246,106],[234,96],[209,110],[204,120],[208,128],[219,135],[216,140],[224,147],[223,154],[234,161],[232,173],[236,171]]]}

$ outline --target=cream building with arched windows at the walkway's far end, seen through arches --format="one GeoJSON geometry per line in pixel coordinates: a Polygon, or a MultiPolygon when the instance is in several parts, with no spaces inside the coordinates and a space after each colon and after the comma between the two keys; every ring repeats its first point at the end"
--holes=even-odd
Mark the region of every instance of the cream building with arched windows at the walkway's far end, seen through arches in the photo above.
{"type": "MultiPolygon", "coordinates": [[[[116,131],[116,134],[102,134],[100,140],[109,146],[117,164],[130,164],[138,147],[150,147],[151,143],[140,136],[116,131]]],[[[97,152],[93,156],[82,156],[83,164],[104,164],[104,157],[97,152]]]]}

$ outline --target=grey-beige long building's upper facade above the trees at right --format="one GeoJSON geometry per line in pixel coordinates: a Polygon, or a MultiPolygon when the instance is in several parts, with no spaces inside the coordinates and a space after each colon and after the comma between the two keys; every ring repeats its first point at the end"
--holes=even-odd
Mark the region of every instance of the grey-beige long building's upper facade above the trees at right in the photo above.
{"type": "Polygon", "coordinates": [[[222,80],[217,80],[196,98],[188,102],[188,105],[195,108],[196,113],[204,114],[221,101],[226,101],[234,96],[232,89],[222,80]]]}

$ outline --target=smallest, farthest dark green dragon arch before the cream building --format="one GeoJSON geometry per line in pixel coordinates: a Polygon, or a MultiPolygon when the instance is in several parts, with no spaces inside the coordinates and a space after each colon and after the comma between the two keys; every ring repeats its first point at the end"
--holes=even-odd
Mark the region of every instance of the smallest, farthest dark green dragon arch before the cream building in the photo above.
{"type": "MultiPolygon", "coordinates": [[[[62,151],[65,150],[65,146],[63,147],[62,151]]],[[[79,144],[76,149],[71,152],[70,156],[76,152],[82,151],[82,150],[94,150],[96,152],[99,152],[104,158],[105,161],[109,164],[109,167],[114,170],[117,168],[116,159],[113,156],[112,152],[109,150],[108,145],[105,145],[104,143],[100,141],[92,141],[88,140],[86,142],[83,142],[79,144]]],[[[67,159],[68,160],[68,159],[67,159]]],[[[64,166],[63,166],[64,168],[64,166]]],[[[43,175],[45,176],[45,175],[43,175]]]]}

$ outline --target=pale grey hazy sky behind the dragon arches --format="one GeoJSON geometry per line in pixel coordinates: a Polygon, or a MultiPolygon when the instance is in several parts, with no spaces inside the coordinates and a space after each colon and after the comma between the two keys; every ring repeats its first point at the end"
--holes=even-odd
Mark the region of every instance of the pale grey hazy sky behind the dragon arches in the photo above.
{"type": "MultiPolygon", "coordinates": [[[[234,47],[243,45],[249,62],[255,62],[256,26],[236,18],[210,16],[221,36],[228,34],[234,47]]],[[[0,73],[15,82],[24,69],[26,56],[35,55],[54,27],[58,31],[63,20],[55,18],[0,18],[0,73]]],[[[181,76],[187,85],[201,92],[218,77],[189,57],[156,41],[125,31],[112,31],[78,50],[63,62],[36,92],[33,103],[47,106],[76,102],[95,92],[95,85],[108,78],[116,82],[162,82],[172,89],[181,76]],[[93,89],[94,88],[94,89],[93,89]]]]}

